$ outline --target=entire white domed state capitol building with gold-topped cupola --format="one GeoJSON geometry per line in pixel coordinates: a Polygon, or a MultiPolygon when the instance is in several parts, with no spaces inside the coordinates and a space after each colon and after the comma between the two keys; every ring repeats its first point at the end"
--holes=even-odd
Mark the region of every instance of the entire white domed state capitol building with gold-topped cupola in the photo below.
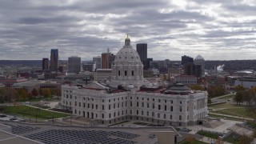
{"type": "Polygon", "coordinates": [[[144,80],[143,64],[128,36],[114,59],[110,81],[62,85],[66,109],[106,125],[134,120],[191,126],[207,116],[207,95],[181,83],[164,89],[144,80]]]}

